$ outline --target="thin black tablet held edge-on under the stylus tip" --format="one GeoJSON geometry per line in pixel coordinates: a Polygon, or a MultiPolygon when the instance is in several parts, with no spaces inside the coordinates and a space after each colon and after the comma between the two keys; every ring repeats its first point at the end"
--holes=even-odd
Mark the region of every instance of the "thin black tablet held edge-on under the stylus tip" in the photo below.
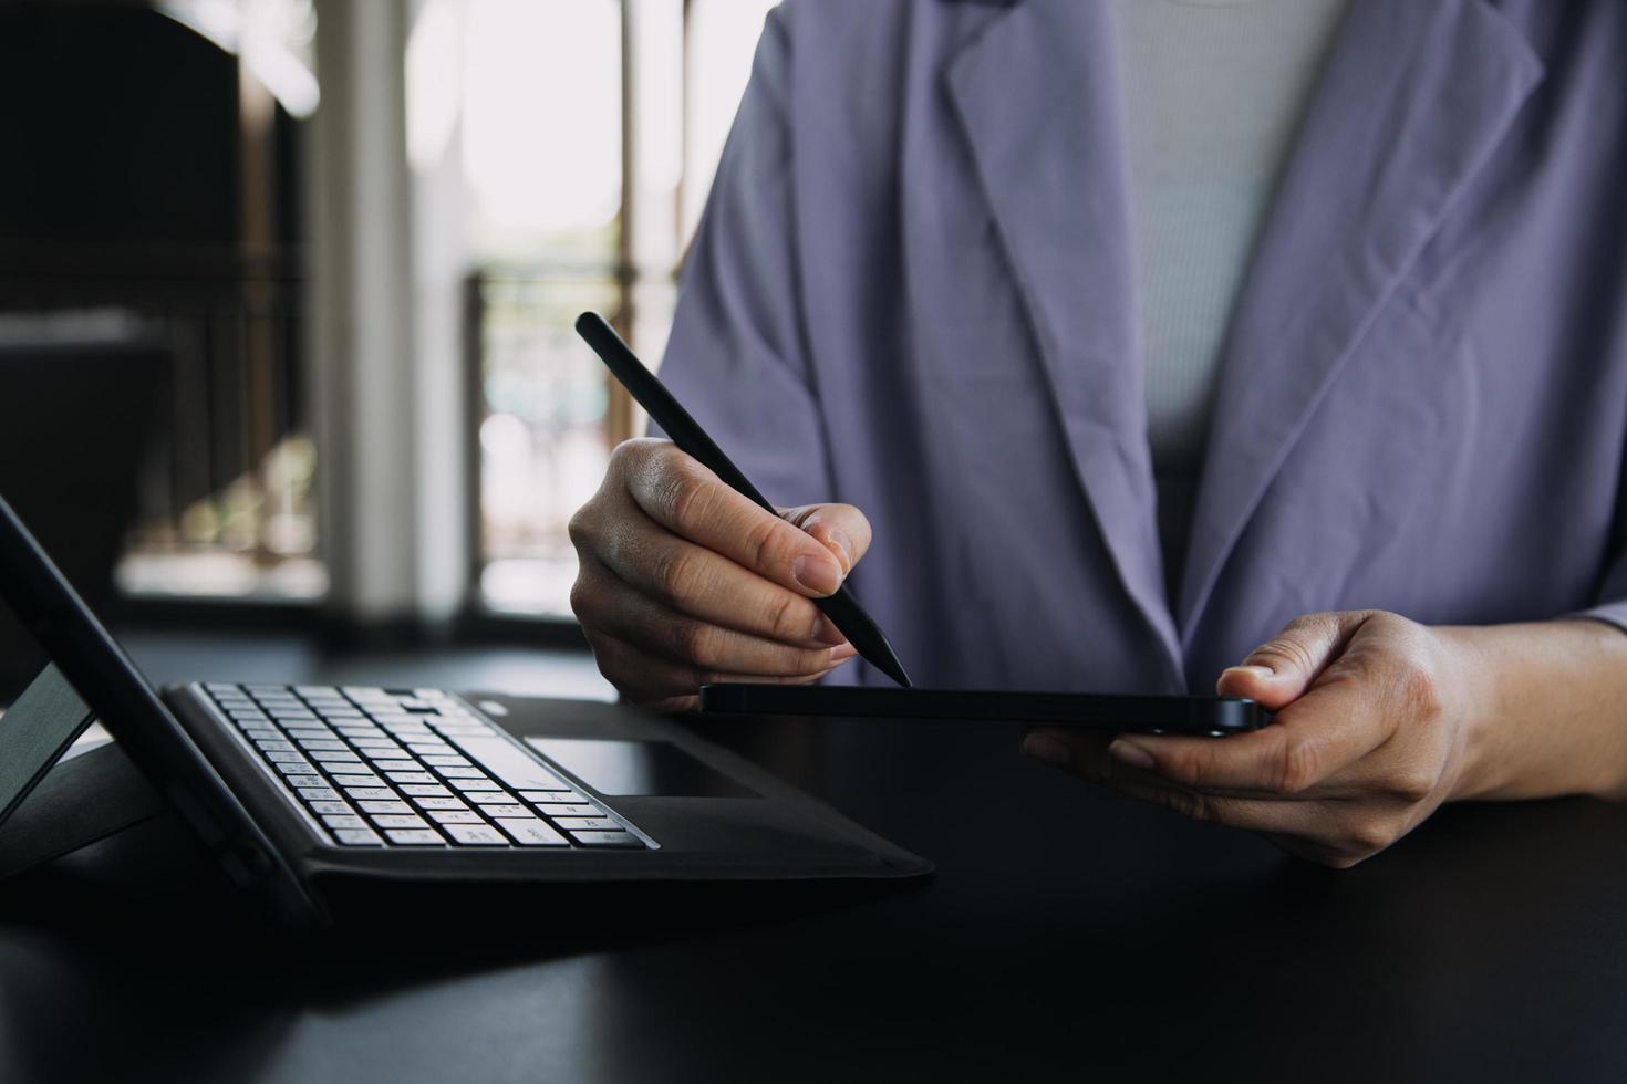
{"type": "Polygon", "coordinates": [[[701,686],[701,710],[727,715],[984,720],[1214,738],[1259,730],[1266,723],[1259,704],[1227,696],[1097,696],[744,683],[701,686]]]}

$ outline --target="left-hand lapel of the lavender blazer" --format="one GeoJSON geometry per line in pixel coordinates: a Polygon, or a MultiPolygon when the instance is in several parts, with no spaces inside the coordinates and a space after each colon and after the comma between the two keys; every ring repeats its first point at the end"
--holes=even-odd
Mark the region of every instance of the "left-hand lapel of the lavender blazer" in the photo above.
{"type": "Polygon", "coordinates": [[[947,80],[1085,499],[1129,598],[1178,673],[1145,437],[1110,20],[1105,3],[1025,0],[950,62],[947,80]]]}

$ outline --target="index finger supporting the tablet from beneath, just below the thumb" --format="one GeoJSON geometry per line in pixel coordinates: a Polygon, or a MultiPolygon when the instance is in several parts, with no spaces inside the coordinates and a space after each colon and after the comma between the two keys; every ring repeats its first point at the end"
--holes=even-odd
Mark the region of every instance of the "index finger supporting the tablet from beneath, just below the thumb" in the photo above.
{"type": "Polygon", "coordinates": [[[1184,787],[1310,795],[1394,733],[1360,666],[1341,660],[1266,726],[1230,738],[1126,735],[1108,754],[1184,787]]]}

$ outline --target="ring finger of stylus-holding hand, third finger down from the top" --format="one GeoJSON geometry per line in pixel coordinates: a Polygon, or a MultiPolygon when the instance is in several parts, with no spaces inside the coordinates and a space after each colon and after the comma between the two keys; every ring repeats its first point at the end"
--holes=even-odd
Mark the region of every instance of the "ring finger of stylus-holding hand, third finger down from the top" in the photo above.
{"type": "Polygon", "coordinates": [[[571,605],[584,627],[675,663],[771,676],[823,671],[854,655],[851,644],[796,647],[711,624],[615,582],[607,569],[586,574],[579,583],[589,587],[573,592],[571,605]]]}

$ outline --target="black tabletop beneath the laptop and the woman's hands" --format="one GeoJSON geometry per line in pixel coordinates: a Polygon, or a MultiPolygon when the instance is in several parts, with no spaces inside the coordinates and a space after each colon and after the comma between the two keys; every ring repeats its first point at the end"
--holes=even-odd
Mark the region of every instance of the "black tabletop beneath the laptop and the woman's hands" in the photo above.
{"type": "Polygon", "coordinates": [[[937,876],[490,921],[403,899],[321,943],[202,869],[145,900],[33,878],[0,895],[0,1079],[1627,1079],[1627,808],[1455,808],[1331,873],[1007,728],[714,736],[937,876]]]}

